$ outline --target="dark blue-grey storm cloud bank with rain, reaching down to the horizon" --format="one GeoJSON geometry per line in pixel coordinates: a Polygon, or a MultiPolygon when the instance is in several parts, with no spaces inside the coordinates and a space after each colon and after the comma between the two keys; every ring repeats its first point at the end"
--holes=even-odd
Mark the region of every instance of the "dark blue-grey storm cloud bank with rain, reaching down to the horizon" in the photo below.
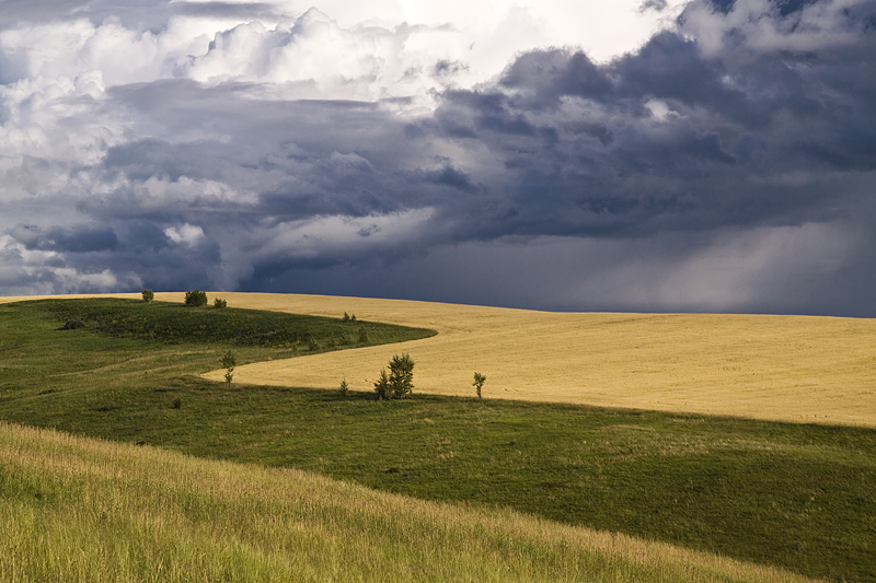
{"type": "Polygon", "coordinates": [[[83,225],[9,235],[155,289],[876,315],[855,291],[876,264],[876,2],[729,19],[742,8],[693,2],[606,63],[519,55],[418,117],[397,114],[411,101],[284,100],[256,81],[113,86],[100,107],[124,112],[127,138],[92,166],[99,191],[73,197],[83,225]],[[518,258],[531,285],[496,272],[493,295],[452,291],[518,258]]]}

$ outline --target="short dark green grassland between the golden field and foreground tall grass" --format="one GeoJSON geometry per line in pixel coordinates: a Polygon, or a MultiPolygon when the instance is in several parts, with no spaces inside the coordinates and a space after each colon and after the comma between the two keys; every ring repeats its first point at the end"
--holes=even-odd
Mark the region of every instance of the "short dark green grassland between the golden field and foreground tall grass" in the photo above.
{"type": "MultiPolygon", "coordinates": [[[[165,314],[204,320],[183,331],[212,329],[209,318],[226,311],[91,302],[0,305],[0,418],[507,506],[809,576],[876,581],[876,430],[416,393],[387,403],[307,388],[228,389],[197,376],[228,347],[239,362],[301,347],[247,345],[223,326],[199,341],[174,333],[170,345],[138,330],[159,329],[154,319],[165,314]],[[90,328],[58,329],[69,306],[90,328]]],[[[324,324],[308,333],[316,349],[330,349],[331,338],[332,349],[344,346],[334,327],[347,324],[324,324]]],[[[368,338],[429,334],[391,330],[368,338]]]]}

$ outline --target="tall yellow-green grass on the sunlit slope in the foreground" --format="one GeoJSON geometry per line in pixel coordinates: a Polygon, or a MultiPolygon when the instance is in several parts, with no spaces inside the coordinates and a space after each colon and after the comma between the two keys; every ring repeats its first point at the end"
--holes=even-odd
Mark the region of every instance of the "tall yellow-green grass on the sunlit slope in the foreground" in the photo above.
{"type": "Polygon", "coordinates": [[[805,581],[510,511],[5,423],[0,580],[805,581]]]}

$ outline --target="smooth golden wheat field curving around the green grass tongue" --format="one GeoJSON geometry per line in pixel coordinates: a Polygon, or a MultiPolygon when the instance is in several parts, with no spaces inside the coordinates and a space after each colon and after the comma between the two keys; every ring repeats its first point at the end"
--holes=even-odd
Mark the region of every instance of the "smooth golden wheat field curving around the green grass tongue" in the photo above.
{"type": "MultiPolygon", "coordinates": [[[[212,298],[216,294],[210,294],[212,298]]],[[[240,366],[239,383],[372,390],[393,354],[415,392],[876,427],[876,319],[549,313],[401,300],[219,293],[230,306],[431,328],[437,336],[240,366]]],[[[127,294],[138,298],[139,294],[127,294]]],[[[182,301],[182,293],[155,299],[182,301]]],[[[14,299],[4,299],[11,301],[14,299]]],[[[221,381],[223,371],[206,374],[221,381]]]]}

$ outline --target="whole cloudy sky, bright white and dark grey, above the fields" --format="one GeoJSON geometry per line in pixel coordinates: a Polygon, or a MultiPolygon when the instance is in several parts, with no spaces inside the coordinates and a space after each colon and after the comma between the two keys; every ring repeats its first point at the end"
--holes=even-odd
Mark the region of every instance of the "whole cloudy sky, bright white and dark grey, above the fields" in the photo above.
{"type": "Polygon", "coordinates": [[[0,0],[0,295],[875,283],[876,0],[0,0]]]}

